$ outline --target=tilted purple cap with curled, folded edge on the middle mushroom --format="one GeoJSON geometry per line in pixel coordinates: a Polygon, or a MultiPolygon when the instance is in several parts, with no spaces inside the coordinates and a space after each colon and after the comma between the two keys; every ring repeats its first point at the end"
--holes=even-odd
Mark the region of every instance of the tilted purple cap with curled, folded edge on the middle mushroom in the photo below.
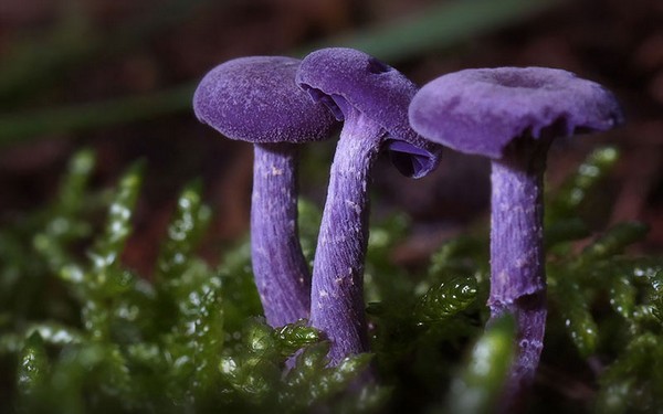
{"type": "Polygon", "coordinates": [[[402,174],[420,178],[438,167],[442,148],[420,137],[408,121],[418,87],[393,67],[354,49],[322,49],[304,57],[296,82],[338,120],[349,105],[378,123],[387,134],[391,161],[402,174]]]}

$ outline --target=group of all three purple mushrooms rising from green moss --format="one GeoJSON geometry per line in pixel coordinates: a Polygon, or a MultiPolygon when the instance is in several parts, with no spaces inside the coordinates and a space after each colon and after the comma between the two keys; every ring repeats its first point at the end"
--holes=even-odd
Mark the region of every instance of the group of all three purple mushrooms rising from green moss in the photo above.
{"type": "Polygon", "coordinates": [[[267,322],[308,319],[330,342],[329,363],[369,350],[362,295],[371,168],[382,151],[404,176],[424,177],[442,146],[492,160],[491,323],[518,328],[506,405],[533,381],[543,349],[546,277],[543,176],[552,139],[622,121],[597,83],[544,67],[466,70],[419,89],[351,49],[302,61],[243,57],[212,70],[193,102],[199,119],[254,144],[252,263],[267,322]],[[297,235],[296,147],[343,121],[313,270],[297,235]]]}

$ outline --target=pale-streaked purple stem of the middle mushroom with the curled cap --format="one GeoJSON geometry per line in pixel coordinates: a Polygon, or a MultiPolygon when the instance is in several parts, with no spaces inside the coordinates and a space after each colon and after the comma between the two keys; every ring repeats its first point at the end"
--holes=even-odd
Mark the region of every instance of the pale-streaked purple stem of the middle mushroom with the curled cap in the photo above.
{"type": "Polygon", "coordinates": [[[329,339],[329,364],[368,351],[364,259],[370,170],[385,130],[348,108],[336,147],[313,265],[311,323],[329,339]]]}

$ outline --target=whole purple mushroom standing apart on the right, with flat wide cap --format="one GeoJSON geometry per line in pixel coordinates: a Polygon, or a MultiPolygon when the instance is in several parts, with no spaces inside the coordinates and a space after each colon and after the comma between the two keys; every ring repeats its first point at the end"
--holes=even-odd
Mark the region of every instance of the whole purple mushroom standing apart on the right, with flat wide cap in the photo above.
{"type": "Polygon", "coordinates": [[[533,381],[543,348],[546,276],[543,177],[556,136],[622,121],[614,96],[570,72],[545,67],[466,70],[424,85],[410,105],[412,128],[460,152],[492,160],[492,319],[515,315],[518,352],[506,397],[533,381]]]}

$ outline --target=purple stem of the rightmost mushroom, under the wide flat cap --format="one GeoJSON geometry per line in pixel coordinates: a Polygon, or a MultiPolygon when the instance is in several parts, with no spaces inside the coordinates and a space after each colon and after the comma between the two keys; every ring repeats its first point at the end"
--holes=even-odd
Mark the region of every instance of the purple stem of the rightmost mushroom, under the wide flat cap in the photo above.
{"type": "Polygon", "coordinates": [[[549,140],[522,139],[492,162],[491,319],[513,314],[517,343],[506,404],[534,381],[544,346],[546,269],[543,177],[549,140]]]}

